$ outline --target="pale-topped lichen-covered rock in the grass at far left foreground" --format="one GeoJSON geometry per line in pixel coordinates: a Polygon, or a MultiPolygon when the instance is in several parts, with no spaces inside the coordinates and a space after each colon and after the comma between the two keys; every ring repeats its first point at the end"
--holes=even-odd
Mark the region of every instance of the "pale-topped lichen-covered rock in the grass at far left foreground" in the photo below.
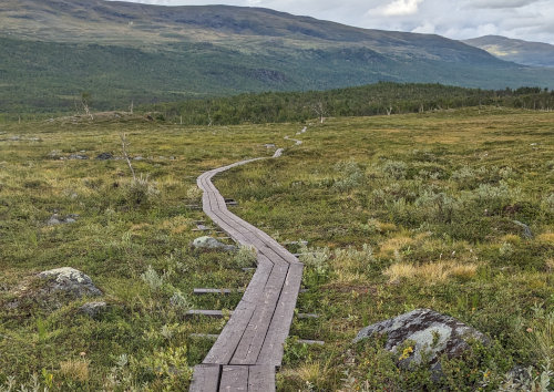
{"type": "Polygon", "coordinates": [[[75,297],[101,296],[102,291],[94,286],[92,279],[71,267],[55,268],[39,274],[40,279],[49,280],[49,291],[64,291],[75,297]]]}

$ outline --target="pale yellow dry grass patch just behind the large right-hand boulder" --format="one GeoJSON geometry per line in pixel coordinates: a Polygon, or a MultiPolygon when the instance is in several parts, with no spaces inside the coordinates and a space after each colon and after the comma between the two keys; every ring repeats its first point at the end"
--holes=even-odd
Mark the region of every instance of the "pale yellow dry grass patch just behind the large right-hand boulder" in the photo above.
{"type": "Polygon", "coordinates": [[[438,261],[414,266],[407,262],[397,262],[383,272],[389,281],[397,282],[401,279],[422,279],[429,283],[445,281],[451,277],[472,278],[478,266],[474,264],[460,264],[455,261],[438,261]]]}

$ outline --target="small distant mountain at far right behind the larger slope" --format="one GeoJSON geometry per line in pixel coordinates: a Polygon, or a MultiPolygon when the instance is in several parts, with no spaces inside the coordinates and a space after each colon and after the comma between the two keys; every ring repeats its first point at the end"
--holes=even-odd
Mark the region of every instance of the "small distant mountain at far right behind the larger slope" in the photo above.
{"type": "Polygon", "coordinates": [[[519,64],[554,66],[554,45],[550,43],[513,40],[500,35],[484,35],[462,42],[519,64]]]}

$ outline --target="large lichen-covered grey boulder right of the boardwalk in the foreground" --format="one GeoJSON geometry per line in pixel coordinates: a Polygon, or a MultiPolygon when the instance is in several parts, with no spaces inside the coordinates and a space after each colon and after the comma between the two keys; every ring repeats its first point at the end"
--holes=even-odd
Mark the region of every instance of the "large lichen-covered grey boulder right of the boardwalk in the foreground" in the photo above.
{"type": "Polygon", "coordinates": [[[439,359],[443,354],[448,358],[459,357],[470,348],[471,340],[488,342],[486,337],[478,330],[431,309],[416,309],[366,327],[358,333],[355,342],[373,334],[387,336],[384,348],[399,355],[401,367],[421,363],[424,353],[431,370],[439,372],[439,359]],[[399,352],[400,349],[402,352],[399,352]]]}

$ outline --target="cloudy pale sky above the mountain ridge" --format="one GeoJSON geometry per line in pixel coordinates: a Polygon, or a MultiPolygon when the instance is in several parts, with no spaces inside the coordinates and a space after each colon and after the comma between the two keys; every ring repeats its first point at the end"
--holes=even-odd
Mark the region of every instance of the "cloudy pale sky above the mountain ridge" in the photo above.
{"type": "Polygon", "coordinates": [[[161,6],[271,8],[368,29],[453,39],[499,34],[554,44],[554,0],[125,0],[161,6]]]}

